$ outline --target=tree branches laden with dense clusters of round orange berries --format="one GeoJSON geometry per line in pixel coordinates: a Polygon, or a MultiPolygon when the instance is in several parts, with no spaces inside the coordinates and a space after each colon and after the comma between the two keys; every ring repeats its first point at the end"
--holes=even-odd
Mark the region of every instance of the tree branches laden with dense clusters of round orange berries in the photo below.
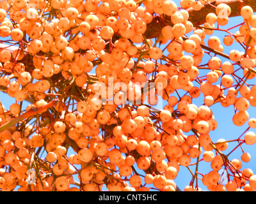
{"type": "Polygon", "coordinates": [[[255,191],[242,168],[256,142],[255,10],[253,0],[1,1],[0,85],[15,99],[0,103],[1,191],[200,191],[200,180],[255,191]],[[234,107],[242,135],[211,138],[216,104],[234,107]],[[184,167],[191,181],[179,189],[184,167]]]}

